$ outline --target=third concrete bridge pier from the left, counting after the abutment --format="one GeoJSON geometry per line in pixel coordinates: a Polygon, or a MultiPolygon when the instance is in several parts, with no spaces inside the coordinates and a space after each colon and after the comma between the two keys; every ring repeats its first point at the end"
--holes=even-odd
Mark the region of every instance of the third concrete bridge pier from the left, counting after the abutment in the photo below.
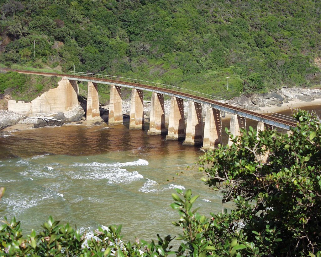
{"type": "Polygon", "coordinates": [[[132,89],[132,103],[130,108],[129,129],[142,129],[144,127],[143,90],[132,89]]]}

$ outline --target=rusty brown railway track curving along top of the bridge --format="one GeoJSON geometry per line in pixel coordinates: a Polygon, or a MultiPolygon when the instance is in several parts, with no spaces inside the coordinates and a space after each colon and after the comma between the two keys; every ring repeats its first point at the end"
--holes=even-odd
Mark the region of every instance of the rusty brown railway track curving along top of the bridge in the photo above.
{"type": "Polygon", "coordinates": [[[153,86],[149,86],[149,85],[144,85],[144,84],[139,84],[139,83],[132,83],[132,82],[126,82],[126,81],[120,81],[120,80],[113,80],[113,79],[107,79],[107,78],[97,78],[97,77],[87,77],[87,76],[77,76],[77,75],[70,75],[70,74],[57,74],[57,73],[49,73],[49,72],[38,72],[38,71],[28,71],[28,70],[16,70],[16,69],[4,69],[1,68],[1,70],[5,70],[5,71],[16,71],[19,73],[25,73],[25,74],[35,74],[35,75],[43,75],[43,76],[59,76],[59,77],[68,77],[68,78],[75,78],[75,80],[78,79],[87,79],[87,80],[95,80],[95,81],[101,81],[101,82],[109,82],[109,83],[113,83],[113,84],[123,84],[123,85],[128,85],[128,86],[132,86],[132,87],[141,87],[141,88],[145,88],[145,89],[149,89],[152,91],[162,91],[164,94],[168,93],[169,95],[175,94],[175,95],[179,95],[179,96],[185,96],[188,98],[193,98],[195,100],[199,100],[205,103],[208,103],[209,105],[217,105],[217,106],[221,106],[221,107],[225,107],[228,109],[232,109],[235,110],[237,112],[240,113],[245,113],[248,115],[252,115],[252,116],[256,116],[263,119],[267,119],[267,120],[271,120],[273,122],[276,123],[281,123],[290,127],[296,127],[297,124],[295,122],[291,122],[288,120],[284,120],[282,118],[278,118],[278,117],[273,117],[271,115],[267,115],[267,114],[261,114],[261,113],[257,113],[257,112],[253,112],[244,108],[240,108],[238,106],[232,106],[229,104],[225,104],[222,103],[220,101],[215,101],[215,100],[211,100],[205,97],[200,97],[200,96],[194,96],[191,94],[187,94],[187,93],[182,93],[182,92],[178,92],[175,90],[170,90],[167,88],[160,88],[160,87],[153,87],[153,86]]]}

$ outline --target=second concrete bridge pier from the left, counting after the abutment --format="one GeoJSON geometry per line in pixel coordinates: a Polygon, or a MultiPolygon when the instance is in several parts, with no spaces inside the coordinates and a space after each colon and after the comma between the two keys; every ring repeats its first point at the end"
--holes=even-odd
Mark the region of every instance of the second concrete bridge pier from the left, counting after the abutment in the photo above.
{"type": "Polygon", "coordinates": [[[110,86],[108,125],[123,124],[121,87],[110,86]]]}

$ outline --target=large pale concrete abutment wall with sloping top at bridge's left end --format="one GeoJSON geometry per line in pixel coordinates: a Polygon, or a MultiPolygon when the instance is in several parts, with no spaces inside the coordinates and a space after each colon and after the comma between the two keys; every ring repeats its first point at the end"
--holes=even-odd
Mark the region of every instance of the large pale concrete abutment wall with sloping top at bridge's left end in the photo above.
{"type": "Polygon", "coordinates": [[[30,103],[9,100],[8,110],[24,114],[65,112],[78,106],[78,93],[77,82],[63,77],[58,82],[58,87],[50,89],[30,103]]]}

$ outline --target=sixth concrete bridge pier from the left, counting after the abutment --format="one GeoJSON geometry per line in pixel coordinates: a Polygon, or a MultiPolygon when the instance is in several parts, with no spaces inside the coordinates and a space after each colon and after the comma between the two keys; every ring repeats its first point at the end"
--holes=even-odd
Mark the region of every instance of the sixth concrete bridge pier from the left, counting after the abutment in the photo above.
{"type": "Polygon", "coordinates": [[[186,137],[183,145],[201,145],[203,143],[202,105],[190,101],[186,125],[186,137]]]}

